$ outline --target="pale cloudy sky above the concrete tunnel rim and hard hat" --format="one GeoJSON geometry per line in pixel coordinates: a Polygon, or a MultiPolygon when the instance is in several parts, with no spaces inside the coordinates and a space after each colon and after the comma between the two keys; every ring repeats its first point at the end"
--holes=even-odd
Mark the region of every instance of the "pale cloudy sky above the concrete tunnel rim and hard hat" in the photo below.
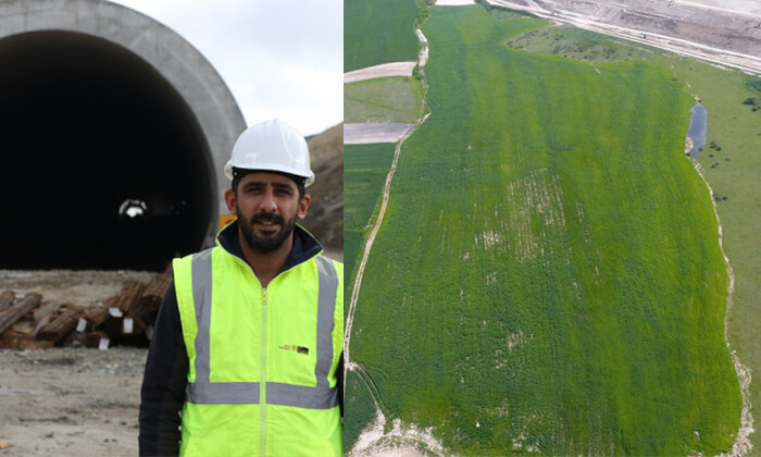
{"type": "Polygon", "coordinates": [[[169,26],[222,75],[247,125],[309,136],[344,120],[342,0],[112,0],[169,26]]]}

